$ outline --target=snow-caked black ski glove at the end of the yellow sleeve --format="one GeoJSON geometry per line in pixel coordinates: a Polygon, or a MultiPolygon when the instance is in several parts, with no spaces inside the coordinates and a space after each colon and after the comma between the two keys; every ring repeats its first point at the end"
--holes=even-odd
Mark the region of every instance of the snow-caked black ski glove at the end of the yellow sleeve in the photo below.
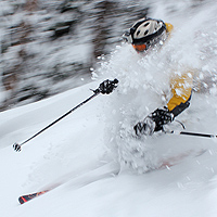
{"type": "Polygon", "coordinates": [[[137,136],[152,136],[155,131],[163,129],[163,126],[174,120],[174,114],[167,107],[157,108],[143,122],[138,123],[133,129],[137,136]]]}

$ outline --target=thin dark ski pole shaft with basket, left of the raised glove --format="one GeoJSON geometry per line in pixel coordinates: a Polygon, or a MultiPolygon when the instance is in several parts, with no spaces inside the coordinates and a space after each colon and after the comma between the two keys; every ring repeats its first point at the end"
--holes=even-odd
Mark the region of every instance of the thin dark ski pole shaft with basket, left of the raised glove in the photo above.
{"type": "Polygon", "coordinates": [[[88,101],[90,101],[91,99],[93,99],[94,97],[97,97],[100,92],[94,92],[94,94],[92,94],[90,98],[88,98],[87,100],[85,100],[84,102],[81,102],[80,104],[78,104],[77,106],[73,107],[71,111],[68,111],[67,113],[65,113],[64,115],[62,115],[61,117],[59,117],[58,119],[55,119],[54,122],[52,122],[50,125],[48,125],[47,127],[44,127],[43,129],[41,129],[40,131],[38,131],[37,133],[35,133],[33,137],[28,138],[27,140],[25,140],[24,142],[22,142],[21,144],[18,143],[14,143],[13,148],[16,152],[21,151],[21,146],[25,143],[27,143],[28,141],[30,141],[31,139],[34,139],[35,137],[37,137],[38,135],[40,135],[41,132],[43,132],[44,130],[47,130],[48,128],[52,127],[54,124],[56,124],[58,122],[60,122],[61,119],[63,119],[64,117],[66,117],[67,115],[69,115],[72,112],[74,112],[75,110],[77,110],[78,107],[82,106],[84,104],[86,104],[88,101]]]}

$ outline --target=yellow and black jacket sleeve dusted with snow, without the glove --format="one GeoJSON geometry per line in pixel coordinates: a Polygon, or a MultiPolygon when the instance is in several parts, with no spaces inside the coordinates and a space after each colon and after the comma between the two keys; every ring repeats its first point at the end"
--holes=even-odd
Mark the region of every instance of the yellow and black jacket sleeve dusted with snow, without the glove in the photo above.
{"type": "Polygon", "coordinates": [[[190,105],[193,72],[189,71],[181,75],[176,75],[170,80],[170,86],[173,97],[167,103],[167,107],[176,117],[190,105]]]}

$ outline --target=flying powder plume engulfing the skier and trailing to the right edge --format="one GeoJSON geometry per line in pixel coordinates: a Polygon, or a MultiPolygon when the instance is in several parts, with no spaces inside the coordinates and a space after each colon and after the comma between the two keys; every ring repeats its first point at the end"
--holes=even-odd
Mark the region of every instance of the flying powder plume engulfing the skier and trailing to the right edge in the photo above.
{"type": "MultiPolygon", "coordinates": [[[[206,12],[197,11],[188,23],[180,23],[180,17],[179,23],[174,21],[173,37],[166,46],[149,55],[139,54],[131,46],[123,44],[108,60],[101,58],[93,77],[119,80],[117,90],[107,98],[104,112],[105,143],[120,165],[141,174],[156,168],[162,157],[169,155],[169,145],[161,149],[157,133],[152,138],[138,139],[133,126],[157,107],[166,105],[171,97],[169,80],[174,74],[182,75],[190,69],[194,72],[194,90],[216,94],[217,20],[210,15],[212,22],[208,22],[206,12]]],[[[214,12],[212,10],[212,14],[214,12]]],[[[184,113],[187,115],[188,112],[184,113]]],[[[187,119],[184,114],[180,116],[187,119]]],[[[161,140],[164,140],[162,135],[161,140]]]]}

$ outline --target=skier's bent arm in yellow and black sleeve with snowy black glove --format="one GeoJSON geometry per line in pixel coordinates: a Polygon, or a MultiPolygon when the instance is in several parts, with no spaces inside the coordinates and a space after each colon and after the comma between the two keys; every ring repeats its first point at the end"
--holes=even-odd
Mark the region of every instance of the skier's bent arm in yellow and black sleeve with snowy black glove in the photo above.
{"type": "Polygon", "coordinates": [[[173,97],[167,106],[157,108],[135,127],[137,136],[151,136],[155,131],[163,129],[163,126],[173,122],[183,110],[190,105],[191,91],[193,82],[193,73],[187,72],[171,79],[173,97]]]}

